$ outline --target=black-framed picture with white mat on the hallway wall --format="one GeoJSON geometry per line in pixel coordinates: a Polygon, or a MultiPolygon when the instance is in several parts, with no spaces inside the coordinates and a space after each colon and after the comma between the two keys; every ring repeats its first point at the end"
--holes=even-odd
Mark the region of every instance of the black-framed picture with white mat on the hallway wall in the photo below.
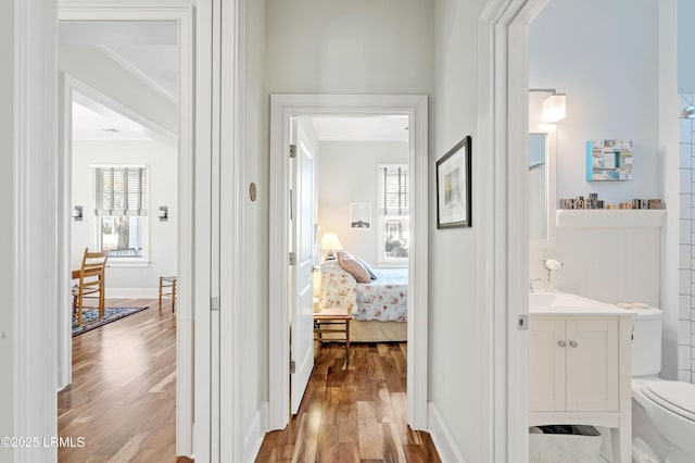
{"type": "Polygon", "coordinates": [[[471,220],[471,145],[464,137],[437,161],[437,228],[468,228],[471,220]]]}

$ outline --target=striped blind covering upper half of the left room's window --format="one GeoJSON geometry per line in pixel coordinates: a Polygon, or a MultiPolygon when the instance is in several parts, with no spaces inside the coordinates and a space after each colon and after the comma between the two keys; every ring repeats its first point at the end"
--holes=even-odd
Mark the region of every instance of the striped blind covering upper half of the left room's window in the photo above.
{"type": "Polygon", "coordinates": [[[147,215],[146,167],[96,167],[97,215],[147,215]]]}

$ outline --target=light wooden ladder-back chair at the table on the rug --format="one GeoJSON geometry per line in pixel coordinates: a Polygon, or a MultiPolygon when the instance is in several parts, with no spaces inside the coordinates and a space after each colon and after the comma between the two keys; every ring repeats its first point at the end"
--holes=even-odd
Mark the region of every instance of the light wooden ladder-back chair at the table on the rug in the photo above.
{"type": "Polygon", "coordinates": [[[99,317],[104,316],[104,277],[108,259],[109,252],[89,252],[89,249],[85,248],[79,275],[74,275],[78,281],[73,286],[73,313],[77,313],[77,325],[83,324],[85,309],[99,309],[99,317]],[[98,303],[88,306],[85,305],[85,299],[98,299],[98,303]]]}

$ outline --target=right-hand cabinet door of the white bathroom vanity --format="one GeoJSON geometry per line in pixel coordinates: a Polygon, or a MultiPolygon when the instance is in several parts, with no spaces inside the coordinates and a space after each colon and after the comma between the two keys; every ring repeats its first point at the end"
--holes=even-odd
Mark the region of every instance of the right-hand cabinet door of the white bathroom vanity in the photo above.
{"type": "Polygon", "coordinates": [[[618,321],[567,322],[567,411],[618,411],[618,321]]]}

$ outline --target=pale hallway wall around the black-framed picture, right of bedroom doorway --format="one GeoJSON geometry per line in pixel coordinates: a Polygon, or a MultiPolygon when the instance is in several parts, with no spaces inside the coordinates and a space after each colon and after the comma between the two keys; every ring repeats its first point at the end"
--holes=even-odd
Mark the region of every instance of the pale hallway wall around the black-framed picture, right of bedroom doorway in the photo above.
{"type": "MultiPolygon", "coordinates": [[[[430,312],[429,396],[467,462],[481,460],[477,224],[484,211],[472,211],[472,228],[438,230],[435,161],[478,121],[477,32],[483,0],[438,0],[435,4],[435,91],[430,105],[430,312]]],[[[476,180],[473,179],[473,190],[476,180]]],[[[473,199],[475,201],[475,199],[473,199]]]]}

